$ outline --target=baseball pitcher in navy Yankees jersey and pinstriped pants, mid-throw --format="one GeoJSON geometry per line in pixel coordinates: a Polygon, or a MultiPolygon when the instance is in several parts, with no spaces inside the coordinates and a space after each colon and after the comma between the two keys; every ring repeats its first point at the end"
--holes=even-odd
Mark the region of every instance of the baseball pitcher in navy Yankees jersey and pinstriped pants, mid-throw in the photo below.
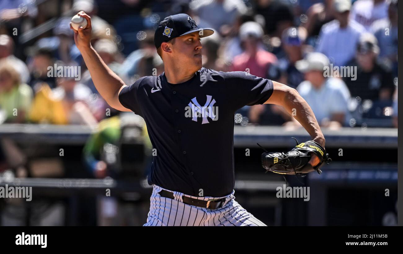
{"type": "Polygon", "coordinates": [[[245,105],[277,104],[307,130],[312,140],[288,154],[264,153],[262,165],[280,174],[319,171],[327,159],[325,139],[307,102],[284,84],[247,72],[202,67],[199,28],[187,14],[164,18],[154,43],[164,61],[159,76],[127,86],[106,66],[90,43],[87,27],[74,39],[100,95],[120,111],[145,120],[156,156],[147,177],[153,186],[145,226],[265,226],[235,201],[234,115],[245,105]]]}

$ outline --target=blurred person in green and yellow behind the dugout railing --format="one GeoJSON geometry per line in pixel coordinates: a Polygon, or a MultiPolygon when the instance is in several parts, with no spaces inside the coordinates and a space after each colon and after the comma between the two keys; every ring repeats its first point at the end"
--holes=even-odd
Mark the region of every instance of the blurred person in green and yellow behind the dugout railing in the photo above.
{"type": "MultiPolygon", "coordinates": [[[[86,168],[95,178],[141,180],[151,165],[152,145],[143,118],[133,113],[110,112],[102,120],[83,149],[86,168]]],[[[148,205],[123,197],[96,197],[97,225],[141,225],[148,205]]]]}

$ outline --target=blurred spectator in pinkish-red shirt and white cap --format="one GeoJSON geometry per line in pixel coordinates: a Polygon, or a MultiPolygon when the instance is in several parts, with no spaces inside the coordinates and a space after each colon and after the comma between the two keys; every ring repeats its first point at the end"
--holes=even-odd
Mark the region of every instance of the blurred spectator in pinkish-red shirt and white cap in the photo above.
{"type": "Polygon", "coordinates": [[[267,77],[268,68],[277,61],[277,58],[260,47],[262,36],[263,29],[258,23],[248,21],[241,25],[239,37],[245,51],[234,57],[231,71],[248,72],[261,78],[267,77]]]}

